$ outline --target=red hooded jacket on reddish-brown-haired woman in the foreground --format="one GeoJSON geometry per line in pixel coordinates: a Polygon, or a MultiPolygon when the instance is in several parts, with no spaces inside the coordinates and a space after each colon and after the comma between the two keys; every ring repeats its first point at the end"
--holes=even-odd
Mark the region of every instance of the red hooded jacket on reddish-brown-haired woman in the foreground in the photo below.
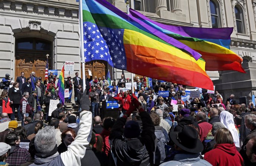
{"type": "Polygon", "coordinates": [[[229,143],[216,145],[213,150],[204,154],[204,159],[213,166],[241,166],[243,158],[236,146],[229,143]]]}

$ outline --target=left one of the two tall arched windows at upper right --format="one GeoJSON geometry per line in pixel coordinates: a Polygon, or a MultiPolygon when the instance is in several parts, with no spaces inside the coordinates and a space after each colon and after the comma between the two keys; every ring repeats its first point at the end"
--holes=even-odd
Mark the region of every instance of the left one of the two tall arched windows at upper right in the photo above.
{"type": "Polygon", "coordinates": [[[210,0],[211,27],[220,28],[220,8],[215,1],[210,0]]]}

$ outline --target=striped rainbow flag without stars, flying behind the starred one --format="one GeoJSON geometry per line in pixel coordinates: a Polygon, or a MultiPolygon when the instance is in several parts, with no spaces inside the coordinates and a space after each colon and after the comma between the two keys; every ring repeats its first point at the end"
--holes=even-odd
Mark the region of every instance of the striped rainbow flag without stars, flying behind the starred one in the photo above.
{"type": "Polygon", "coordinates": [[[132,16],[143,23],[200,53],[206,62],[206,70],[235,70],[245,73],[241,66],[243,59],[229,49],[233,28],[211,29],[171,26],[153,21],[133,9],[129,9],[129,11],[132,16]]]}

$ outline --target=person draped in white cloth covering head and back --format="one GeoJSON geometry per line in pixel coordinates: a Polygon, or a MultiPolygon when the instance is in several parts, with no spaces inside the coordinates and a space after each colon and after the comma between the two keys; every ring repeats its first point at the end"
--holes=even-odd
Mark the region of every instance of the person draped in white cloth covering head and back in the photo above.
{"type": "Polygon", "coordinates": [[[239,136],[234,125],[233,115],[227,111],[222,111],[220,113],[220,122],[231,132],[235,146],[240,147],[239,136]]]}

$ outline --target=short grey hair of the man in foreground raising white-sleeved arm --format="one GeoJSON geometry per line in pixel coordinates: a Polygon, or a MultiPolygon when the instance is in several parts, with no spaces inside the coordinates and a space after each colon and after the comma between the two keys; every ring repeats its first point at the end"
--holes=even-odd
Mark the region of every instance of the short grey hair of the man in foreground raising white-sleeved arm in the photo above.
{"type": "Polygon", "coordinates": [[[56,130],[46,126],[38,131],[35,137],[35,148],[38,153],[50,153],[56,146],[56,130]]]}

